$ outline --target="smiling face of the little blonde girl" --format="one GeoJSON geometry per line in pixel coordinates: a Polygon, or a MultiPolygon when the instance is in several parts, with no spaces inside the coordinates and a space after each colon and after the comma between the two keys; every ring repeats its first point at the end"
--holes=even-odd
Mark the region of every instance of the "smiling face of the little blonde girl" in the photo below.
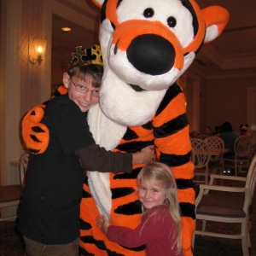
{"type": "Polygon", "coordinates": [[[158,181],[152,179],[145,182],[142,179],[138,187],[138,197],[146,209],[151,209],[163,204],[166,198],[166,189],[158,181]]]}

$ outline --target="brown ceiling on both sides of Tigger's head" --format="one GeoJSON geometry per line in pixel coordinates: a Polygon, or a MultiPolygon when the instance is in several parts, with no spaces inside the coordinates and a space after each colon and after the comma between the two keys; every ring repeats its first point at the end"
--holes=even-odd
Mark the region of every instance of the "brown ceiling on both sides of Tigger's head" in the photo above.
{"type": "MultiPolygon", "coordinates": [[[[100,10],[91,6],[88,0],[67,0],[69,7],[83,9],[85,15],[95,20],[96,29],[100,10]],[[82,2],[81,2],[82,1],[82,2]],[[84,1],[84,2],[83,2],[84,1]],[[82,3],[85,5],[82,6],[82,3]],[[71,4],[72,3],[72,4],[71,4]],[[77,6],[79,3],[80,6],[77,6]],[[88,4],[89,3],[89,4],[88,4]],[[90,8],[88,7],[90,6],[90,8]]],[[[189,67],[188,74],[207,79],[248,76],[256,74],[256,1],[255,0],[197,0],[202,8],[220,5],[230,13],[230,20],[224,32],[210,44],[205,44],[189,67]]],[[[70,20],[53,16],[52,66],[65,66],[67,56],[75,46],[89,48],[98,44],[97,32],[92,32],[70,20]],[[62,26],[70,26],[71,32],[62,32],[62,26]]],[[[185,74],[186,74],[185,73],[185,74]]]]}

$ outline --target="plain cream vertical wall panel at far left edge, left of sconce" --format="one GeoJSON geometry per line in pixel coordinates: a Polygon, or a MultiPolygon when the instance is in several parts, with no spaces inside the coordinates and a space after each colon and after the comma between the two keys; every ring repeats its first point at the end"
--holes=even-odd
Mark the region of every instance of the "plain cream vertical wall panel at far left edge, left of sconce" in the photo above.
{"type": "Polygon", "coordinates": [[[21,0],[2,1],[0,60],[1,184],[17,182],[9,161],[20,156],[20,24],[21,0]]]}

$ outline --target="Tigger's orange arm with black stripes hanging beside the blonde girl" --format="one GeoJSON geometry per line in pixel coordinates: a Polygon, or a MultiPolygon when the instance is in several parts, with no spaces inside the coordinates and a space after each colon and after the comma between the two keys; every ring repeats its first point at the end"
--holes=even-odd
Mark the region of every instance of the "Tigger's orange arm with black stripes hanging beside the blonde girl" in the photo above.
{"type": "Polygon", "coordinates": [[[190,161],[191,144],[185,99],[177,84],[167,90],[153,125],[157,158],[172,168],[177,182],[183,222],[182,247],[184,256],[191,256],[192,236],[195,231],[194,165],[190,161]]]}

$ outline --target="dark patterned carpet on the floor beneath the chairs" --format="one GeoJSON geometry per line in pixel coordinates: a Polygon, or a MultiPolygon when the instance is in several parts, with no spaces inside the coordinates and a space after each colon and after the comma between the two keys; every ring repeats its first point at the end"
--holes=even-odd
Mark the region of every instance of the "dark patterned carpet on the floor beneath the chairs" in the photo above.
{"type": "MultiPolygon", "coordinates": [[[[253,197],[253,214],[250,220],[252,224],[250,232],[252,247],[249,248],[249,253],[250,256],[256,256],[256,191],[253,197]]],[[[201,228],[201,223],[197,223],[197,228],[201,228]]],[[[221,226],[217,223],[207,222],[207,229],[222,229],[235,233],[239,230],[239,226],[237,224],[224,224],[224,226],[221,226]]],[[[0,256],[21,256],[24,255],[24,248],[22,236],[16,230],[16,222],[0,222],[0,256]]],[[[242,256],[241,241],[196,236],[194,256],[242,256]]]]}

